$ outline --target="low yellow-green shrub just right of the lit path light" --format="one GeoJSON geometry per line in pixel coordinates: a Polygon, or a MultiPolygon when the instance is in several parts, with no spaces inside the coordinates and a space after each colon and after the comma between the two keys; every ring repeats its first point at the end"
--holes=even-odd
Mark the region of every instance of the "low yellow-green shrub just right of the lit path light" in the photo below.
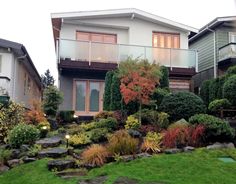
{"type": "Polygon", "coordinates": [[[69,144],[73,147],[85,146],[91,143],[90,137],[86,133],[80,133],[78,135],[73,135],[69,139],[69,144]]]}

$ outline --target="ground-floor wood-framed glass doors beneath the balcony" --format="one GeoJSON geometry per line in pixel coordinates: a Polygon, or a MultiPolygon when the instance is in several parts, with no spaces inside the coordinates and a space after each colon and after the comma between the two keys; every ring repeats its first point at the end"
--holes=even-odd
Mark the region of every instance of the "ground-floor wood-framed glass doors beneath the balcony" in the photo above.
{"type": "Polygon", "coordinates": [[[75,80],[74,85],[75,111],[89,114],[103,110],[103,81],[75,80]]]}

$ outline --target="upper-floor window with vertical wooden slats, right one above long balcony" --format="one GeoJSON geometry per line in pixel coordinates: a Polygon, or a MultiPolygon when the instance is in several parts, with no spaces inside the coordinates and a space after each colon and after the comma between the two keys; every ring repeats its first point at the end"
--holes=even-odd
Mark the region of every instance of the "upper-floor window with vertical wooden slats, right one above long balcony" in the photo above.
{"type": "Polygon", "coordinates": [[[154,32],[152,45],[162,48],[180,48],[180,36],[177,33],[154,32]]]}

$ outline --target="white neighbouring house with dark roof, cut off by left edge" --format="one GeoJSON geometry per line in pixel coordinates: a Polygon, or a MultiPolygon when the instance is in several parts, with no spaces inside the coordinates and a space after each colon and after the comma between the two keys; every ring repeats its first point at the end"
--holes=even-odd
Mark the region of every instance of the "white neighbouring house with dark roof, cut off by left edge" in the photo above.
{"type": "Polygon", "coordinates": [[[41,78],[24,45],[0,39],[0,96],[30,107],[41,100],[41,78]]]}

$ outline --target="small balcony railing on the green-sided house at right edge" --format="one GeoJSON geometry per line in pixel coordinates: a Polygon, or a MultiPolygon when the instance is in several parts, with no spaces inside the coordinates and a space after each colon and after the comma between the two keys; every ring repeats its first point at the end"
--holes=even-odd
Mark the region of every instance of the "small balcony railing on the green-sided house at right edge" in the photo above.
{"type": "Polygon", "coordinates": [[[219,49],[219,62],[236,58],[236,43],[229,43],[219,49]]]}

